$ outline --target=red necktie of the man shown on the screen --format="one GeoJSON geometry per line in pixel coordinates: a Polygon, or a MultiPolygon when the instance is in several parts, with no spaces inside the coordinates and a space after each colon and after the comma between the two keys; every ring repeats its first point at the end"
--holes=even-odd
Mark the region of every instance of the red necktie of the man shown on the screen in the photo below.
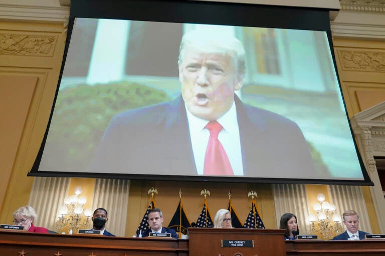
{"type": "Polygon", "coordinates": [[[223,129],[222,125],[217,121],[210,121],[206,128],[210,131],[210,137],[207,143],[203,173],[205,175],[234,175],[229,157],[218,139],[218,134],[223,129]]]}

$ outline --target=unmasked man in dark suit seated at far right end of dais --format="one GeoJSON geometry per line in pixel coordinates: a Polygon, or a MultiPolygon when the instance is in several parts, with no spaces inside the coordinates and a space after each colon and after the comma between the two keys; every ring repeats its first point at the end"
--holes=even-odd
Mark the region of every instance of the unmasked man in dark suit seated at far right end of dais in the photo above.
{"type": "Polygon", "coordinates": [[[346,226],[346,231],[336,235],[333,237],[332,240],[361,240],[365,239],[364,231],[358,230],[359,226],[359,216],[358,213],[354,210],[347,210],[343,214],[343,223],[346,226]]]}

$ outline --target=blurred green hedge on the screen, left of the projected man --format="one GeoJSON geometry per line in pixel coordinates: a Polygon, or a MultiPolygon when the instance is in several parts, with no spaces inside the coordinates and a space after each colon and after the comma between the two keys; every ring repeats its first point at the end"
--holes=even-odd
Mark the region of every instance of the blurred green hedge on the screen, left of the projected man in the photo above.
{"type": "Polygon", "coordinates": [[[64,164],[73,171],[87,171],[115,114],[170,99],[164,91],[130,82],[60,90],[46,142],[47,166],[64,164]]]}

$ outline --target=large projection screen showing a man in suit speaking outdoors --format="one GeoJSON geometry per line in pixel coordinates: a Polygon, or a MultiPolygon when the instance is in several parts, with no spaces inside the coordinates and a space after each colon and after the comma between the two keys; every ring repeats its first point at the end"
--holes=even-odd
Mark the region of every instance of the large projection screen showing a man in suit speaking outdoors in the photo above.
{"type": "MultiPolygon", "coordinates": [[[[258,8],[193,4],[248,7],[245,20],[258,8]]],[[[71,10],[53,111],[29,175],[370,183],[329,29],[189,20],[180,17],[184,8],[169,20],[134,11],[71,10]],[[231,172],[207,172],[210,120],[223,126],[218,139],[231,172]]]]}

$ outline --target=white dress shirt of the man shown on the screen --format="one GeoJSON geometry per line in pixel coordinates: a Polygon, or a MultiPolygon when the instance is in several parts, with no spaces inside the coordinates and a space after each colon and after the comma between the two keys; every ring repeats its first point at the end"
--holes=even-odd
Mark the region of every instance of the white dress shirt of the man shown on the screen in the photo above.
{"type": "MultiPolygon", "coordinates": [[[[197,166],[198,174],[203,175],[206,148],[210,137],[210,131],[205,128],[205,126],[209,121],[196,117],[188,110],[186,110],[186,113],[195,164],[197,166]]],[[[218,134],[218,139],[225,148],[234,175],[243,175],[241,141],[239,137],[237,109],[234,102],[229,111],[217,119],[217,121],[223,126],[223,129],[218,134]]]]}

